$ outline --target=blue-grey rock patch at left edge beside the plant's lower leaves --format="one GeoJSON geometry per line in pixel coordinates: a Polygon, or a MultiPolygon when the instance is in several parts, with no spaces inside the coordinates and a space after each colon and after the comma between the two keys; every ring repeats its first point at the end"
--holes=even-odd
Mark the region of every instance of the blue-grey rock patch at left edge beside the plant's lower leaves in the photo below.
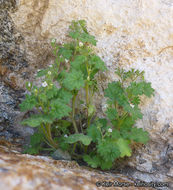
{"type": "Polygon", "coordinates": [[[0,82],[0,124],[6,126],[6,131],[0,132],[0,136],[4,136],[6,140],[15,138],[17,133],[23,137],[33,134],[32,128],[20,125],[21,118],[17,107],[21,96],[21,91],[14,91],[4,82],[0,82]]]}

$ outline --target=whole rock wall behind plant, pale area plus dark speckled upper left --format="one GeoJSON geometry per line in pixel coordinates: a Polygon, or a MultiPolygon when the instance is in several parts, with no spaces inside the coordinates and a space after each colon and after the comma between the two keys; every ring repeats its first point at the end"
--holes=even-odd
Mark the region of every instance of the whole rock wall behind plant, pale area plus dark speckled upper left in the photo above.
{"type": "MultiPolygon", "coordinates": [[[[128,159],[134,168],[129,175],[147,182],[173,181],[172,0],[18,0],[16,4],[0,0],[0,10],[1,88],[9,86],[16,92],[28,78],[34,80],[36,69],[53,61],[51,38],[66,40],[73,19],[85,19],[96,36],[96,51],[110,69],[106,81],[115,79],[117,65],[144,70],[155,97],[144,99],[144,117],[137,125],[150,133],[151,140],[128,159]]],[[[15,105],[9,108],[18,115],[16,100],[15,105]]],[[[3,109],[0,114],[5,113],[3,109]]],[[[12,112],[8,111],[8,117],[12,112]]]]}

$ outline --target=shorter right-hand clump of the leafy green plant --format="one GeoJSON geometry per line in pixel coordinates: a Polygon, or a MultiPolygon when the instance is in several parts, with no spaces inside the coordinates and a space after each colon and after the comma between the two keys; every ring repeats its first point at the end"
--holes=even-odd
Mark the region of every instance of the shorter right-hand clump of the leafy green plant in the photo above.
{"type": "Polygon", "coordinates": [[[151,97],[154,93],[151,84],[144,81],[144,72],[138,70],[125,72],[118,68],[115,73],[119,80],[109,83],[105,90],[107,117],[87,129],[95,150],[85,155],[84,160],[95,168],[110,169],[115,159],[131,156],[130,145],[134,142],[146,144],[149,140],[148,133],[135,127],[135,123],[142,119],[140,96],[151,97]]]}

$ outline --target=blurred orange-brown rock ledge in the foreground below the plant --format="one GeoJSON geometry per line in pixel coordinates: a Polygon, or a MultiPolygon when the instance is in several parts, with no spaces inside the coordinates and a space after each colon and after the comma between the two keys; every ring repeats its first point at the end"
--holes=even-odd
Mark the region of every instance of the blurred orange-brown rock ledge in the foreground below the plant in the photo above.
{"type": "MultiPolygon", "coordinates": [[[[0,184],[5,190],[152,190],[134,187],[134,181],[121,174],[80,167],[74,161],[53,160],[45,156],[20,154],[15,147],[0,146],[0,184]],[[129,187],[97,187],[96,182],[114,182],[129,187]]],[[[123,185],[122,185],[123,186],[123,185]]]]}

